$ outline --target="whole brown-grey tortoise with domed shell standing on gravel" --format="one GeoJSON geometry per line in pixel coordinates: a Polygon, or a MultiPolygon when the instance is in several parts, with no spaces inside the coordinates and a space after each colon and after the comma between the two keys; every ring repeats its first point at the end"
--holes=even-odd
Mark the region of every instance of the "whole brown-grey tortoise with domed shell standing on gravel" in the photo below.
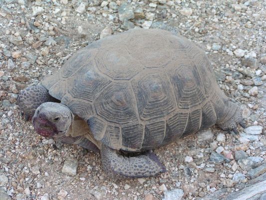
{"type": "Polygon", "coordinates": [[[245,125],[205,52],[162,29],[90,43],[41,84],[21,90],[18,105],[38,134],[100,151],[113,177],[165,172],[151,149],[214,124],[234,132],[245,125]]]}

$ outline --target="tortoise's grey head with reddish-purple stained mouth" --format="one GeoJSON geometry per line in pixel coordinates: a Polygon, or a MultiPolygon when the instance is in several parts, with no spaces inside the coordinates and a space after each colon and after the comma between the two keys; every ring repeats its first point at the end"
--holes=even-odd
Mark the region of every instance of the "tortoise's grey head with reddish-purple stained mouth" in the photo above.
{"type": "Polygon", "coordinates": [[[35,131],[44,137],[58,137],[65,134],[72,120],[71,110],[55,102],[42,103],[32,117],[35,131]]]}

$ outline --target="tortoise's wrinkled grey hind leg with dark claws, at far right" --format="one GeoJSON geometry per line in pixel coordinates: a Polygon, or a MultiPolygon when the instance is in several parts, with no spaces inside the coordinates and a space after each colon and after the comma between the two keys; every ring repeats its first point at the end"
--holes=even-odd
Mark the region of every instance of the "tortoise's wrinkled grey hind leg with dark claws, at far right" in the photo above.
{"type": "Polygon", "coordinates": [[[239,105],[232,101],[228,101],[228,107],[226,108],[226,114],[217,121],[217,125],[223,130],[232,130],[234,133],[238,133],[237,126],[240,124],[245,127],[242,117],[242,109],[239,105]]]}

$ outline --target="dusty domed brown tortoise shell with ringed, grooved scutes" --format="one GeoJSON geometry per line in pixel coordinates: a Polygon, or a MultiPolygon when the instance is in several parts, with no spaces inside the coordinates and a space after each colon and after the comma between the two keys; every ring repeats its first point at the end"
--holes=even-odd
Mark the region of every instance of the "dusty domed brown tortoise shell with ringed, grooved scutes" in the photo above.
{"type": "Polygon", "coordinates": [[[204,51],[181,35],[131,29],[77,51],[42,84],[114,149],[152,149],[216,123],[226,96],[204,51]]]}

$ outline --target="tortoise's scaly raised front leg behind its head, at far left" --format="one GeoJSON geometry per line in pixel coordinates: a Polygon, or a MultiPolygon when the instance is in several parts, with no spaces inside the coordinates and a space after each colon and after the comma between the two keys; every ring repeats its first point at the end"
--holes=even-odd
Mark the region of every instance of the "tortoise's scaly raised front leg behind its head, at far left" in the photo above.
{"type": "Polygon", "coordinates": [[[17,97],[17,104],[25,114],[25,119],[30,120],[36,108],[44,102],[56,102],[48,90],[42,85],[33,85],[21,90],[17,97]]]}

